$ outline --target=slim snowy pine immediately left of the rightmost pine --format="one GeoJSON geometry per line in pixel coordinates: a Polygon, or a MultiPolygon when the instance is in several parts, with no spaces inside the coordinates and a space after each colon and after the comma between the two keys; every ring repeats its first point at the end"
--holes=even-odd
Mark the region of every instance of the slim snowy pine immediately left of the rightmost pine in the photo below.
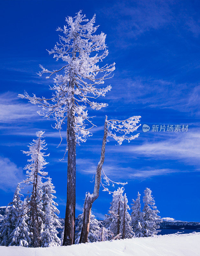
{"type": "Polygon", "coordinates": [[[140,204],[140,194],[138,192],[138,197],[136,200],[132,199],[133,204],[131,209],[131,220],[132,220],[132,227],[133,232],[135,233],[135,237],[143,237],[142,229],[142,221],[143,221],[143,212],[141,212],[141,204],[140,204]]]}

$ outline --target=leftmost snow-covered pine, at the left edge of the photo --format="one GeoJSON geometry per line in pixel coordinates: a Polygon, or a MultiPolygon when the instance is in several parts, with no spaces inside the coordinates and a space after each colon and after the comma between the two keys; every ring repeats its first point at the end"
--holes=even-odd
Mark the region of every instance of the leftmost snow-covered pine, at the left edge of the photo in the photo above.
{"type": "Polygon", "coordinates": [[[21,210],[21,196],[22,194],[20,194],[20,188],[18,183],[18,186],[13,196],[13,200],[11,203],[9,203],[10,206],[6,207],[4,219],[1,225],[0,239],[2,246],[8,246],[12,241],[12,237],[14,235],[12,234],[12,232],[16,228],[16,223],[18,222],[18,216],[21,210]]]}

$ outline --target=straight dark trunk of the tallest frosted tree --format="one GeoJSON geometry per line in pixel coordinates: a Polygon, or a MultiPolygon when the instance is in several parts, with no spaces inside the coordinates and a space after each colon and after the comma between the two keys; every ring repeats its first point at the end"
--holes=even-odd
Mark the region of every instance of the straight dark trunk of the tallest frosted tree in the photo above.
{"type": "MultiPolygon", "coordinates": [[[[73,81],[69,84],[74,88],[73,81]]],[[[75,113],[74,95],[72,94],[69,102],[68,112],[68,174],[67,174],[67,204],[65,212],[65,229],[62,245],[75,243],[75,204],[76,204],[76,142],[75,142],[75,113]]]]}

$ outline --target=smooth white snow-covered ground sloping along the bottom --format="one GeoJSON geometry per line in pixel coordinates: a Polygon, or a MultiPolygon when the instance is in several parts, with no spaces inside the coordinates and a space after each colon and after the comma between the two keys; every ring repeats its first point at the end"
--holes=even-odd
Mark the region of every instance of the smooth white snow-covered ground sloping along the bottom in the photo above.
{"type": "Polygon", "coordinates": [[[196,256],[200,233],[132,238],[54,248],[0,246],[3,256],[196,256]]]}

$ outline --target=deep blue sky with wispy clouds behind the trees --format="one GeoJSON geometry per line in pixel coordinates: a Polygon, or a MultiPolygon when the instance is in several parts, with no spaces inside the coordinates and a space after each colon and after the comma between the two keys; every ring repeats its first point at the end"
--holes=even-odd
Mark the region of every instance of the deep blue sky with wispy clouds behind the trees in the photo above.
{"type": "MultiPolygon", "coordinates": [[[[77,146],[76,210],[82,211],[85,193],[100,158],[105,115],[126,119],[140,115],[141,124],[189,125],[188,132],[143,132],[130,143],[106,145],[104,171],[112,180],[128,181],[129,200],[146,187],[161,217],[200,221],[199,197],[199,1],[1,1],[0,62],[0,204],[11,201],[17,182],[25,176],[27,158],[21,152],[46,131],[50,156],[46,167],[55,186],[60,216],[66,204],[67,162],[60,162],[65,144],[57,148],[59,133],[37,113],[37,107],[17,98],[26,90],[50,95],[50,81],[39,77],[39,64],[60,65],[48,55],[58,40],[57,27],[66,16],[83,10],[96,13],[98,32],[107,34],[109,56],[116,62],[112,85],[104,102],[108,107],[89,111],[97,128],[86,143],[77,146]]],[[[117,188],[117,187],[115,187],[117,188]]],[[[93,213],[102,219],[112,196],[100,188],[93,213]]],[[[143,195],[142,195],[143,196],[143,195]]]]}

